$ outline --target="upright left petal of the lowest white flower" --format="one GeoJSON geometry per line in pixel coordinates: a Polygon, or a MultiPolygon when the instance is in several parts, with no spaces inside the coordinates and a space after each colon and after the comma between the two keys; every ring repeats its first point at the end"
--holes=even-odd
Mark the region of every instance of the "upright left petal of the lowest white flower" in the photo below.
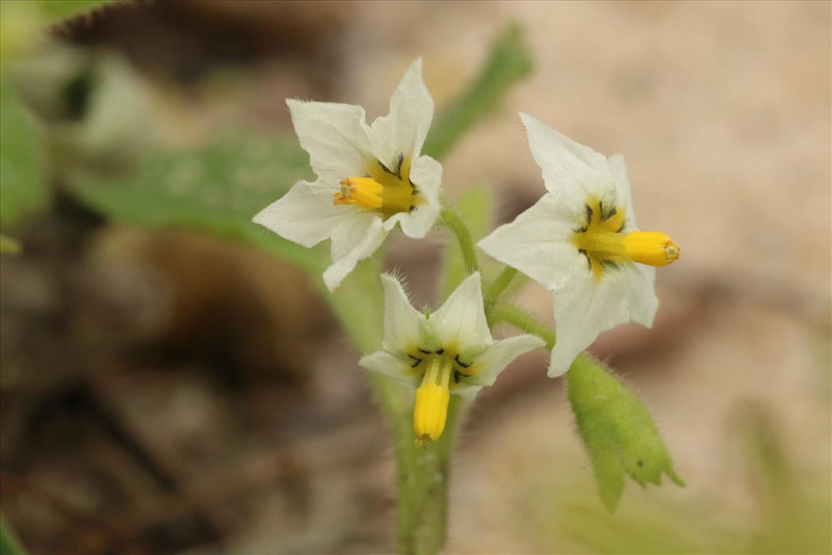
{"type": "Polygon", "coordinates": [[[389,274],[381,275],[384,286],[384,342],[385,350],[407,357],[408,351],[418,348],[424,315],[410,305],[407,293],[399,280],[389,274]]]}

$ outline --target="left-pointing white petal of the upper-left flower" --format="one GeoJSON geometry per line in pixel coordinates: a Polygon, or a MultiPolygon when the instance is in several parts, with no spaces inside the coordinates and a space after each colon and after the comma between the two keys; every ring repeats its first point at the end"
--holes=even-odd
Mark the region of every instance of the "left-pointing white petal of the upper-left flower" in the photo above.
{"type": "Polygon", "coordinates": [[[329,238],[337,226],[354,218],[354,206],[334,206],[332,191],[298,181],[288,193],[260,211],[252,221],[284,239],[311,247],[329,238]]]}

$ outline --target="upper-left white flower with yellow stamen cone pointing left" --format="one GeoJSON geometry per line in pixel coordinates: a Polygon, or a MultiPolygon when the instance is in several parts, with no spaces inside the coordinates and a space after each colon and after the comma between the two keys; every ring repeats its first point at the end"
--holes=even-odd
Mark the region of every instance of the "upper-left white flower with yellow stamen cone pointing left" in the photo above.
{"type": "Polygon", "coordinates": [[[331,239],[324,283],[334,290],[397,223],[419,239],[436,220],[442,166],[419,156],[433,99],[419,59],[393,93],[389,115],[372,126],[359,106],[291,99],[286,104],[317,181],[298,181],[254,221],[306,247],[331,239]]]}

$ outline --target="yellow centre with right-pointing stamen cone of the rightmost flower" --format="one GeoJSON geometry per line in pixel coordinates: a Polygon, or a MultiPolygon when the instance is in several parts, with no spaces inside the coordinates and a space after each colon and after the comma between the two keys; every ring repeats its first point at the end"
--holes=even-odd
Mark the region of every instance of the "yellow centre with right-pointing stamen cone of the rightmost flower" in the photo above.
{"type": "Polygon", "coordinates": [[[623,233],[626,216],[622,207],[604,206],[597,198],[585,205],[586,223],[575,230],[572,244],[587,257],[592,274],[601,280],[604,270],[615,270],[626,260],[651,266],[671,264],[681,249],[669,235],[656,231],[623,233]]]}

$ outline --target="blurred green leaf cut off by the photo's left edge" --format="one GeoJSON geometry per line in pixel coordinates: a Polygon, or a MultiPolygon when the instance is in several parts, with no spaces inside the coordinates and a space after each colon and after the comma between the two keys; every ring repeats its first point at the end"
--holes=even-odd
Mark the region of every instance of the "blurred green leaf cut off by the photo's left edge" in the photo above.
{"type": "Polygon", "coordinates": [[[0,228],[5,230],[42,211],[51,191],[42,130],[6,81],[0,81],[0,112],[0,228]]]}

